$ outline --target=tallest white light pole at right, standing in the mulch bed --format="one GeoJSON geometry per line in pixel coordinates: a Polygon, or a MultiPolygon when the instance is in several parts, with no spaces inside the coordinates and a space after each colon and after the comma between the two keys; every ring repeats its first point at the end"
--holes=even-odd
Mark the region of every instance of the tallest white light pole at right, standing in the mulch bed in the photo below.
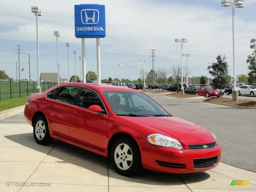
{"type": "Polygon", "coordinates": [[[235,66],[235,33],[234,33],[234,18],[235,18],[235,8],[245,7],[245,0],[222,0],[221,6],[228,7],[232,5],[232,34],[233,34],[233,76],[234,76],[234,88],[232,89],[232,101],[238,101],[238,89],[236,87],[236,66],[235,66]]]}

